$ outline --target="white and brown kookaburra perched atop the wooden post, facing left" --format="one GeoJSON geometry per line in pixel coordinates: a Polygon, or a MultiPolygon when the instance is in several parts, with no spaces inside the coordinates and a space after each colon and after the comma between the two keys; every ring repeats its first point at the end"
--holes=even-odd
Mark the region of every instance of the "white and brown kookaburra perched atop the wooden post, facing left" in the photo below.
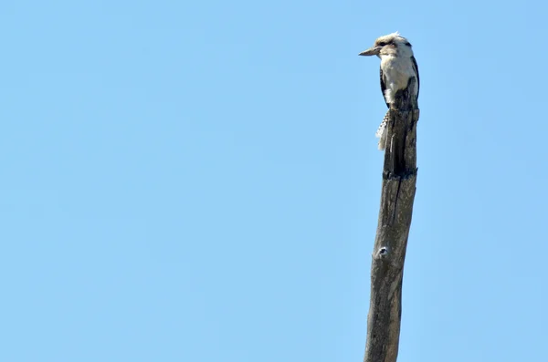
{"type": "MultiPolygon", "coordinates": [[[[418,67],[413,56],[411,44],[397,32],[381,36],[374,41],[374,46],[360,53],[360,56],[377,56],[381,58],[381,90],[385,97],[386,106],[394,103],[395,92],[406,89],[409,80],[416,78],[413,89],[409,89],[411,97],[418,98],[418,67]]],[[[385,150],[386,146],[386,123],[388,122],[390,110],[386,112],[385,119],[381,122],[375,136],[379,138],[379,150],[385,150]]]]}

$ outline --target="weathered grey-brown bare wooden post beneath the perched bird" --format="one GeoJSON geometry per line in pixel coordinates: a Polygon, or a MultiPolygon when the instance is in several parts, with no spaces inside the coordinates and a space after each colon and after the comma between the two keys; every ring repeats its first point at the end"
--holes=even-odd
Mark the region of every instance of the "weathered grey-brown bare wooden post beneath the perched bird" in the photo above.
{"type": "MultiPolygon", "coordinates": [[[[409,81],[413,88],[415,78],[409,81]]],[[[387,128],[379,223],[371,264],[371,301],[364,362],[395,362],[402,316],[402,280],[416,191],[416,122],[407,91],[395,95],[387,128]]]]}

